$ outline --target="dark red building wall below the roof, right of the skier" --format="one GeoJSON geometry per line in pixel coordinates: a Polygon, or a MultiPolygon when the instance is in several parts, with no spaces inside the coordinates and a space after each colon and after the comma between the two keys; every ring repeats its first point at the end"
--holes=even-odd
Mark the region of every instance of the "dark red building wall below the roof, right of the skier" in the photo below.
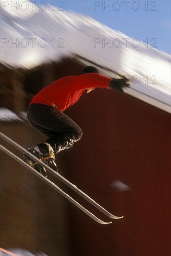
{"type": "Polygon", "coordinates": [[[124,216],[100,225],[70,206],[73,255],[169,256],[170,114],[106,89],[83,95],[65,114],[83,130],[82,139],[63,153],[65,176],[111,213],[124,216]],[[116,180],[130,189],[112,187],[116,180]]]}

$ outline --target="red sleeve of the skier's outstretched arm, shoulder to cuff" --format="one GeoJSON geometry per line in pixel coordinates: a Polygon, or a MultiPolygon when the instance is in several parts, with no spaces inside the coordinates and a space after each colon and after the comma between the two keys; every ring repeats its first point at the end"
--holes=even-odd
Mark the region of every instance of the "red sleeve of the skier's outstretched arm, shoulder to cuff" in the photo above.
{"type": "Polygon", "coordinates": [[[108,76],[96,73],[76,75],[73,79],[73,86],[76,91],[89,88],[109,88],[112,79],[108,76]]]}

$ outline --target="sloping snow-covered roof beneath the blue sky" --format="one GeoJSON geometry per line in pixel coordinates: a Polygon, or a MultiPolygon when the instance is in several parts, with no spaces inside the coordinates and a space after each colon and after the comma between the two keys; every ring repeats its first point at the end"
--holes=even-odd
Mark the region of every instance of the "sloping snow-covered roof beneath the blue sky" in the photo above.
{"type": "Polygon", "coordinates": [[[169,54],[88,16],[53,11],[52,6],[42,11],[26,2],[25,11],[7,6],[1,12],[2,63],[32,68],[63,55],[80,55],[104,67],[106,74],[127,75],[132,79],[128,94],[171,112],[169,54]]]}

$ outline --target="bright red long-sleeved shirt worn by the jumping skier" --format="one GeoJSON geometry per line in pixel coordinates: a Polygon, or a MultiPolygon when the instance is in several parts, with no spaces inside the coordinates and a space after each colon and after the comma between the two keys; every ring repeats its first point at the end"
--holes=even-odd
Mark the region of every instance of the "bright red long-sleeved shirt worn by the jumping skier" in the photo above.
{"type": "Polygon", "coordinates": [[[52,106],[54,103],[60,111],[73,105],[82,93],[89,88],[109,88],[111,78],[101,74],[86,73],[70,75],[54,81],[43,88],[31,101],[52,106]]]}

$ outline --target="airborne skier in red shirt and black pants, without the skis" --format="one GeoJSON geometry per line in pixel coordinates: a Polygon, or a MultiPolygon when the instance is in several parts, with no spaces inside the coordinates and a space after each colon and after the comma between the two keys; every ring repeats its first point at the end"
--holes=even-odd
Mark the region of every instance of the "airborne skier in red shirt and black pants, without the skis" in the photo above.
{"type": "MultiPolygon", "coordinates": [[[[48,136],[28,151],[58,172],[55,154],[70,148],[82,137],[81,128],[63,111],[76,103],[82,94],[95,88],[112,88],[123,92],[127,79],[112,79],[99,73],[95,67],[85,67],[81,74],[70,75],[54,81],[34,96],[27,109],[27,119],[30,125],[48,136]]],[[[23,154],[24,161],[47,177],[43,167],[23,154]]]]}

